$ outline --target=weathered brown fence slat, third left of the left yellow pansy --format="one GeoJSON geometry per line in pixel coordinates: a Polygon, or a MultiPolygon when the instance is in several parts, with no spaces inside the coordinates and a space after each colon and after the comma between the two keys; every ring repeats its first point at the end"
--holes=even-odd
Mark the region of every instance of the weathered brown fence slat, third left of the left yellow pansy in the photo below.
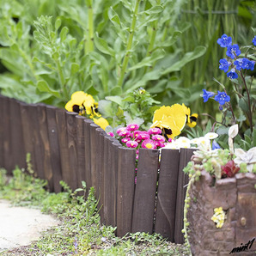
{"type": "Polygon", "coordinates": [[[48,124],[47,124],[47,116],[46,116],[46,104],[38,104],[37,105],[37,119],[38,119],[38,131],[39,131],[39,139],[40,145],[43,146],[43,149],[40,150],[41,155],[37,155],[36,161],[40,163],[40,174],[42,179],[48,180],[48,186],[50,191],[54,191],[53,184],[53,174],[52,174],[52,157],[48,136],[48,124]]]}

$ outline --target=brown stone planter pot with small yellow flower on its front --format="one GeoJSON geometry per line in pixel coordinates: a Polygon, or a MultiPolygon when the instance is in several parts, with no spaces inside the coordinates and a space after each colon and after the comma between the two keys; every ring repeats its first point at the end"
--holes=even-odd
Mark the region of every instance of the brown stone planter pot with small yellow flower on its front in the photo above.
{"type": "Polygon", "coordinates": [[[192,184],[187,212],[193,255],[255,255],[255,184],[255,174],[235,174],[214,184],[210,174],[202,172],[200,180],[192,184]],[[218,207],[226,213],[222,228],[211,220],[218,207]]]}

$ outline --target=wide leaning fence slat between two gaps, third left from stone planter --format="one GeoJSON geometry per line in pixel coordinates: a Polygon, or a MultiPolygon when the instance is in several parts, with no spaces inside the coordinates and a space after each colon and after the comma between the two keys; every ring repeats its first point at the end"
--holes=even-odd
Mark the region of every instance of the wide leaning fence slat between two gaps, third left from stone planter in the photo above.
{"type": "Polygon", "coordinates": [[[159,150],[139,149],[132,233],[153,232],[158,165],[159,150]]]}

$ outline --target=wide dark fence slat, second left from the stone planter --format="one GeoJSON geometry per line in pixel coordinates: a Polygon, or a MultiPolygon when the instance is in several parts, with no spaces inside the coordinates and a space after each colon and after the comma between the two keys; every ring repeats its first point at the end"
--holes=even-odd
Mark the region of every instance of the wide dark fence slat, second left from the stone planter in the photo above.
{"type": "Polygon", "coordinates": [[[162,149],[157,190],[155,233],[174,242],[179,149],[162,149]]]}

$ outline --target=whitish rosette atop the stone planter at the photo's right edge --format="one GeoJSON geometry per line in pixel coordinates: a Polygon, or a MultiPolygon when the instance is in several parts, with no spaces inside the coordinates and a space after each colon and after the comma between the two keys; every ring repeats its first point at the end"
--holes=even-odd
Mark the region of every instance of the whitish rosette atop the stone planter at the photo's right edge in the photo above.
{"type": "Polygon", "coordinates": [[[256,147],[249,149],[247,152],[243,149],[235,149],[235,156],[235,164],[239,166],[241,162],[245,162],[247,163],[247,170],[253,172],[253,164],[256,164],[256,147]]]}

